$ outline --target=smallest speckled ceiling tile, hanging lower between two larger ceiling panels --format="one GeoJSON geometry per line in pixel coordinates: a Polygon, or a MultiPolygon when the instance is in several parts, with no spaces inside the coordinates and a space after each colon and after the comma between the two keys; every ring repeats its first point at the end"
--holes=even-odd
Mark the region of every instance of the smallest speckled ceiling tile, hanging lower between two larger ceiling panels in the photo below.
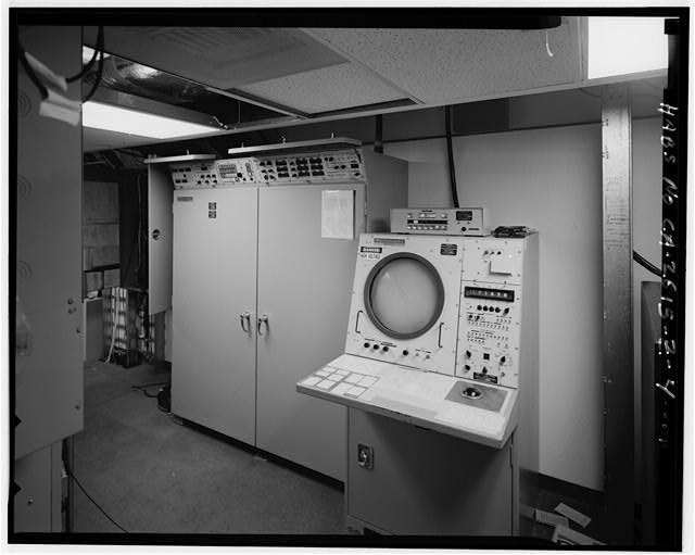
{"type": "Polygon", "coordinates": [[[353,63],[254,83],[239,90],[309,114],[404,98],[371,72],[353,63]]]}

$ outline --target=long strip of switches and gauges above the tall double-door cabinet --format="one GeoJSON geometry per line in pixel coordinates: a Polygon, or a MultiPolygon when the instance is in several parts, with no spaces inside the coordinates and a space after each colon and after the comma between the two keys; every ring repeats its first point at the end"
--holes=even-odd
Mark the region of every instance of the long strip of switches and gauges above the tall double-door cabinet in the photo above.
{"type": "Polygon", "coordinates": [[[172,164],[175,189],[365,180],[358,149],[172,164]]]}

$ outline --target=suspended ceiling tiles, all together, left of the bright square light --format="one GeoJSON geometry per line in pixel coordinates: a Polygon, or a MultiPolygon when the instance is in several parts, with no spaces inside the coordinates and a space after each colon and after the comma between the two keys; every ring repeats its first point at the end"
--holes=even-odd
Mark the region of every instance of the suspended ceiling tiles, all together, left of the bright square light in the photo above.
{"type": "MultiPolygon", "coordinates": [[[[197,83],[317,114],[441,105],[579,80],[578,18],[548,30],[109,27],[106,50],[197,83]]],[[[96,29],[86,34],[92,43],[96,29]]]]}

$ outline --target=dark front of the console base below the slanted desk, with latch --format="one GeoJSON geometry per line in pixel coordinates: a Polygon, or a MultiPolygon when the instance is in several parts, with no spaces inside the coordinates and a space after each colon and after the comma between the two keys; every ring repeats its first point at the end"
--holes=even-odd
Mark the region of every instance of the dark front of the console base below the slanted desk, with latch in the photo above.
{"type": "Polygon", "coordinates": [[[349,517],[396,534],[511,535],[511,442],[491,449],[356,408],[349,437],[349,517]]]}

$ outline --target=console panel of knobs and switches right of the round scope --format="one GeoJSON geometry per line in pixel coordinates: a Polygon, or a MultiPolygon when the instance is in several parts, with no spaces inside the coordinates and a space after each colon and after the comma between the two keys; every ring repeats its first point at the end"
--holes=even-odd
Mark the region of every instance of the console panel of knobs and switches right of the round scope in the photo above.
{"type": "Polygon", "coordinates": [[[519,387],[523,239],[467,240],[456,375],[519,387]]]}

